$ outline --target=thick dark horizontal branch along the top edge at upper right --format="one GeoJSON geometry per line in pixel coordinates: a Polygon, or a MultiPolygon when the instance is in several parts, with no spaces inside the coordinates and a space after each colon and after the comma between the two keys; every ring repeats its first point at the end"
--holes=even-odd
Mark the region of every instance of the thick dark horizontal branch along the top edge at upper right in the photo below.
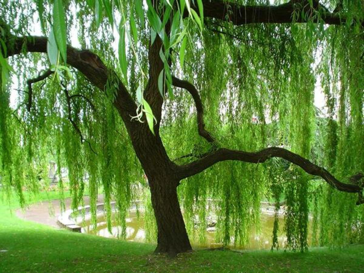
{"type": "MultiPolygon", "coordinates": [[[[292,23],[292,13],[297,12],[297,22],[307,22],[307,18],[302,16],[302,11],[319,12],[321,19],[326,24],[340,25],[345,23],[345,19],[340,17],[336,12],[329,12],[327,8],[313,1],[313,7],[310,7],[308,0],[291,0],[281,5],[239,5],[223,0],[202,0],[204,17],[215,18],[219,20],[230,21],[234,25],[244,25],[252,23],[292,23]]],[[[191,8],[197,13],[197,4],[191,8]]],[[[185,11],[185,16],[188,16],[185,11]]]]}

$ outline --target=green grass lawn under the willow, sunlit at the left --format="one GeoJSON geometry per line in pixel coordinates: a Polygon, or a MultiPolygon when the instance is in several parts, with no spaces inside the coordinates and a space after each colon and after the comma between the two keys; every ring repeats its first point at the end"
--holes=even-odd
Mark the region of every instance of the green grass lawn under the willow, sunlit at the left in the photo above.
{"type": "Polygon", "coordinates": [[[364,245],[303,254],[197,250],[175,258],[153,255],[154,248],[24,221],[0,201],[0,249],[8,250],[0,252],[0,272],[364,272],[364,245]]]}

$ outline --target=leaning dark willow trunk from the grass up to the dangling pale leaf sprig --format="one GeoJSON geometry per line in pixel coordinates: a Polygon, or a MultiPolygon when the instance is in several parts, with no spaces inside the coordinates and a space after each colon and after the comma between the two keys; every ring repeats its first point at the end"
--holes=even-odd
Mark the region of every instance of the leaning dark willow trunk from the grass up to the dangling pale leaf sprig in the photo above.
{"type": "Polygon", "coordinates": [[[174,256],[192,250],[177,197],[177,165],[170,161],[158,128],[155,128],[154,136],[145,123],[135,124],[140,127],[127,128],[135,153],[148,177],[158,229],[155,253],[174,256]]]}

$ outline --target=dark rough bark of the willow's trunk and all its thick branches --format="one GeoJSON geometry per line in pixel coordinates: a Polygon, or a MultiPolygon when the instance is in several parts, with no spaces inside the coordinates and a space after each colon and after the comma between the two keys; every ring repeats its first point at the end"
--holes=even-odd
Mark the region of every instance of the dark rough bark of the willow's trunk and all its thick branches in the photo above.
{"type": "MultiPolygon", "coordinates": [[[[299,1],[294,2],[297,3],[299,1]]],[[[244,7],[224,3],[223,1],[203,0],[203,7],[205,17],[227,20],[236,25],[248,23],[289,23],[292,22],[294,8],[292,3],[289,2],[280,6],[244,7]]],[[[193,6],[192,8],[198,12],[197,7],[193,6]]],[[[344,18],[340,19],[335,13],[325,13],[323,19],[327,24],[340,24],[344,21],[344,18]]],[[[303,19],[298,18],[298,21],[303,21],[303,19]]],[[[3,29],[7,28],[5,27],[3,29]]],[[[5,57],[22,54],[24,50],[26,52],[47,52],[46,37],[15,37],[7,33],[3,38],[7,46],[7,56],[5,57]]],[[[178,166],[173,163],[168,157],[159,137],[159,122],[161,120],[163,104],[163,98],[159,95],[157,84],[159,72],[163,68],[163,63],[159,58],[159,49],[161,46],[161,40],[156,39],[154,44],[149,47],[150,78],[144,92],[145,98],[152,107],[153,113],[158,120],[154,127],[155,136],[150,132],[146,123],[139,123],[130,119],[130,116],[135,115],[137,106],[126,87],[118,80],[115,72],[107,68],[102,60],[91,51],[77,50],[71,46],[67,47],[67,63],[82,72],[94,86],[104,91],[108,76],[110,75],[113,75],[112,80],[115,80],[117,83],[118,90],[114,106],[125,123],[135,153],[149,180],[151,201],[158,227],[158,245],[155,252],[176,254],[191,250],[179,207],[177,187],[181,179],[200,173],[220,161],[238,160],[261,163],[271,157],[282,157],[302,167],[310,174],[321,176],[338,190],[359,193],[358,204],[363,203],[363,199],[361,198],[363,189],[361,186],[341,183],[325,169],[312,164],[299,155],[281,148],[270,147],[257,153],[219,149],[210,154],[203,155],[203,158],[187,165],[178,166]]],[[[198,116],[198,132],[206,141],[213,142],[213,137],[205,130],[203,106],[197,89],[193,84],[175,77],[173,78],[173,85],[184,88],[193,96],[198,116]]]]}

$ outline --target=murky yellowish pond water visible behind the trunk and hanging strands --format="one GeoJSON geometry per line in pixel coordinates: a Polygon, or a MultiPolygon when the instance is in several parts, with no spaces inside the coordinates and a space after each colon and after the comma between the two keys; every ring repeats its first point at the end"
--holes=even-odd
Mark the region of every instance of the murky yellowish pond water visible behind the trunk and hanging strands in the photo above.
{"type": "MultiPolygon", "coordinates": [[[[272,230],[274,223],[274,214],[272,213],[261,213],[261,230],[258,233],[256,227],[252,227],[250,240],[247,245],[244,247],[234,247],[229,246],[230,248],[235,249],[270,249],[272,247],[272,230]]],[[[280,231],[278,232],[278,242],[280,248],[284,248],[286,244],[286,236],[283,232],[284,227],[284,217],[280,215],[279,217],[279,227],[280,231]]],[[[107,230],[106,219],[104,216],[99,216],[97,219],[97,229],[94,230],[91,222],[86,221],[83,225],[82,232],[83,233],[92,233],[97,234],[99,236],[113,238],[117,237],[119,227],[116,222],[112,222],[112,233],[109,233],[107,230]]],[[[135,242],[145,242],[145,223],[143,221],[142,214],[140,217],[137,217],[135,211],[130,211],[130,217],[126,218],[126,240],[127,241],[135,241],[135,242]]],[[[191,245],[194,248],[217,248],[221,247],[221,244],[217,244],[215,242],[215,231],[213,228],[208,228],[206,230],[206,242],[201,244],[198,241],[198,238],[194,239],[190,236],[191,245]]],[[[197,236],[196,236],[197,237],[197,236]]],[[[310,238],[309,238],[310,241],[310,238]]]]}

